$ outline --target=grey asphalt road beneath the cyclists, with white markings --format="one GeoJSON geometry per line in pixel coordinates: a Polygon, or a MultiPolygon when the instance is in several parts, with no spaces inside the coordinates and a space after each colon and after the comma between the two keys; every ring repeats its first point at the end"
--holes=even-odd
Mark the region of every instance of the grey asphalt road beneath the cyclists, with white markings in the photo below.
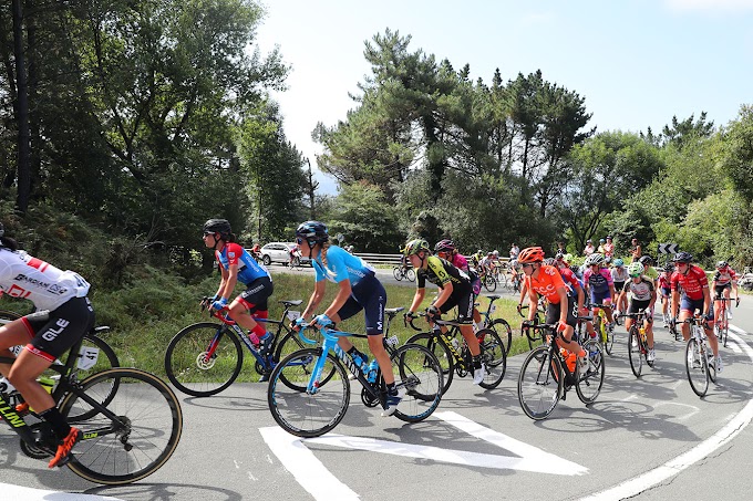
{"type": "Polygon", "coordinates": [[[517,400],[523,356],[508,361],[494,390],[455,378],[437,411],[415,425],[380,417],[352,389],[334,432],[302,441],[277,427],[264,384],[235,385],[210,398],[180,395],[180,445],[133,486],[101,488],[66,469],[48,470],[0,428],[0,499],[84,499],[12,490],[19,488],[155,501],[749,499],[753,298],[734,315],[739,331],[722,352],[724,372],[702,399],[685,378],[684,344],[658,328],[656,368],[637,379],[618,330],[597,403],[586,408],[568,393],[544,421],[527,418],[517,400]]]}

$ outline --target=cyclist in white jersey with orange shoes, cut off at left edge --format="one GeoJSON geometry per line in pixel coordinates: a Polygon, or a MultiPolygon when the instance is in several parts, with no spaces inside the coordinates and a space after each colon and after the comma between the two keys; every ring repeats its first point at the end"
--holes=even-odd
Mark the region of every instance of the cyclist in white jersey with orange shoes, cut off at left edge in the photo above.
{"type": "Polygon", "coordinates": [[[50,468],[70,460],[82,432],[68,424],[37,378],[94,326],[89,289],[78,273],[62,271],[19,250],[0,225],[0,291],[31,301],[37,310],[0,327],[0,357],[13,358],[9,348],[24,346],[12,365],[0,362],[0,373],[23,396],[25,403],[20,406],[33,407],[52,428],[58,449],[50,468]]]}

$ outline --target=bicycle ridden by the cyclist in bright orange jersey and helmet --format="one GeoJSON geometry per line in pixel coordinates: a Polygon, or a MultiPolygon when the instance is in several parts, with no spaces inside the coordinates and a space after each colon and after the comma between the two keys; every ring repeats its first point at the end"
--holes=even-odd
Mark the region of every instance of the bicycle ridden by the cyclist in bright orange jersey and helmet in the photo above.
{"type": "MultiPolygon", "coordinates": [[[[518,401],[523,411],[532,419],[544,419],[549,416],[557,403],[565,399],[567,392],[575,386],[578,398],[590,405],[601,392],[605,375],[605,358],[601,345],[596,340],[582,343],[588,356],[580,358],[571,367],[566,354],[557,346],[555,340],[560,334],[556,324],[533,324],[527,327],[539,331],[538,336],[545,344],[533,349],[520,367],[518,376],[518,401]]],[[[568,358],[575,354],[568,354],[568,358]]]]}

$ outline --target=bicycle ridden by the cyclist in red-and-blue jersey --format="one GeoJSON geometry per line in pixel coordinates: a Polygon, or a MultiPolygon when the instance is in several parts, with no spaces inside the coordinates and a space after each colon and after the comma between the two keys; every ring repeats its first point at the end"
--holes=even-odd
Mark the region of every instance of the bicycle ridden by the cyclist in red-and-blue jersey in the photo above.
{"type": "MultiPolygon", "coordinates": [[[[214,312],[213,316],[220,321],[198,322],[188,325],[171,340],[165,353],[165,373],[167,378],[180,392],[195,397],[208,397],[227,389],[240,375],[244,365],[243,344],[255,359],[254,368],[264,379],[275,368],[276,363],[289,353],[305,347],[298,335],[288,327],[292,316],[288,316],[292,306],[301,300],[279,301],[285,311],[279,321],[256,319],[277,325],[277,333],[269,349],[270,355],[264,357],[254,346],[248,333],[230,320],[226,313],[214,312]]],[[[207,305],[207,299],[202,302],[207,305]]]]}

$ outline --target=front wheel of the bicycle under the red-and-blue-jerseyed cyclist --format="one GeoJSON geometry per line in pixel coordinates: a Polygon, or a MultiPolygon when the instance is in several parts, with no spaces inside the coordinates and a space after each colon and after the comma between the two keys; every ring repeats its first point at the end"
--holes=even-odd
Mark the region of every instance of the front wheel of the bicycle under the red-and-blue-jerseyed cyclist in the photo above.
{"type": "Polygon", "coordinates": [[[216,395],[236,380],[244,353],[226,325],[202,322],[189,325],[167,345],[165,373],[180,392],[195,397],[216,395]]]}

